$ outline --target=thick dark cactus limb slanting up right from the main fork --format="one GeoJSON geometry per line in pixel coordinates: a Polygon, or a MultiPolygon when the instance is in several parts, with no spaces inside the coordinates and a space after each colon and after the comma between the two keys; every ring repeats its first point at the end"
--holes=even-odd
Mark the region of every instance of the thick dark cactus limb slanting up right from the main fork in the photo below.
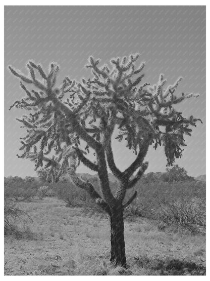
{"type": "Polygon", "coordinates": [[[142,165],[142,162],[144,160],[144,157],[146,156],[146,153],[148,151],[150,145],[150,140],[148,137],[145,137],[145,139],[142,142],[142,145],[139,149],[139,152],[137,154],[136,159],[134,162],[123,172],[125,176],[130,178],[133,173],[142,165]]]}

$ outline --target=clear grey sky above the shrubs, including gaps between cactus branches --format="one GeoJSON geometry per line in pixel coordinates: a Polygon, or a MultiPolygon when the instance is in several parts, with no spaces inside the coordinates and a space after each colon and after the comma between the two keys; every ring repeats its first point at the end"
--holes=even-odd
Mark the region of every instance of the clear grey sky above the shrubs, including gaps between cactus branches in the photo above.
{"type": "MultiPolygon", "coordinates": [[[[146,62],[143,83],[158,82],[163,73],[168,85],[182,76],[177,93],[199,94],[177,106],[185,117],[201,118],[176,164],[190,176],[205,174],[205,6],[5,6],[5,176],[36,176],[34,163],[19,159],[20,137],[16,118],[21,109],[8,110],[25,94],[8,65],[27,73],[29,60],[44,69],[60,66],[58,80],[68,75],[80,81],[91,76],[84,66],[90,56],[101,64],[111,58],[140,54],[146,62]]],[[[116,165],[124,170],[135,158],[124,143],[113,139],[116,165]]],[[[147,172],[164,172],[163,147],[152,147],[145,157],[147,172]]],[[[80,165],[79,173],[91,173],[80,165]]]]}

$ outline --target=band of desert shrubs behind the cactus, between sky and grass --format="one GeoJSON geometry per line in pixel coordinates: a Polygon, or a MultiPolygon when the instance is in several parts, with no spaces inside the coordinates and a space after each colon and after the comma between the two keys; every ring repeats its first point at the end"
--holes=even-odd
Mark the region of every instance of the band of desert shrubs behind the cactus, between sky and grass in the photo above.
{"type": "MultiPolygon", "coordinates": [[[[143,217],[155,222],[160,229],[170,228],[172,231],[205,233],[205,182],[195,180],[186,174],[180,177],[183,168],[174,166],[166,173],[147,173],[140,183],[134,186],[141,196],[125,208],[124,217],[143,217]],[[175,181],[171,181],[173,172],[175,181]]],[[[79,174],[78,174],[79,175],[79,174]]],[[[83,180],[94,184],[99,190],[99,179],[96,175],[79,175],[83,180]]],[[[116,189],[117,181],[111,181],[111,190],[116,189]]],[[[133,191],[131,190],[131,193],[133,191]]],[[[129,196],[129,194],[128,194],[129,196]]],[[[17,206],[20,202],[34,202],[46,197],[56,197],[66,203],[66,207],[81,207],[104,215],[103,210],[94,205],[94,200],[88,192],[78,189],[67,178],[58,183],[49,183],[39,176],[31,181],[19,177],[5,178],[5,205],[17,206]],[[20,182],[22,181],[22,188],[20,182]],[[24,185],[25,184],[25,185],[24,185]],[[17,190],[16,190],[17,189],[17,190]],[[12,191],[11,191],[12,190],[12,191]],[[26,192],[27,191],[27,192],[26,192]],[[18,196],[17,196],[18,194],[18,196]]],[[[19,210],[20,211],[20,210],[19,210]]],[[[7,212],[6,212],[7,214],[7,212]]]]}

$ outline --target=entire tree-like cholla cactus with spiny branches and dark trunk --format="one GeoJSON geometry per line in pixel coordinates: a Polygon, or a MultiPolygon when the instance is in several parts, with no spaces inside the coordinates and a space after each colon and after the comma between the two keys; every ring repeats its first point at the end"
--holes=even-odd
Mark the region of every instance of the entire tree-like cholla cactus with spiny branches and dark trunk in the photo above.
{"type": "Polygon", "coordinates": [[[21,140],[21,158],[35,162],[35,169],[43,167],[48,179],[58,181],[63,173],[69,173],[72,182],[85,189],[95,202],[106,210],[111,218],[111,261],[125,265],[123,210],[136,197],[137,192],[124,202],[126,191],[132,188],[147,169],[143,162],[149,146],[165,146],[167,165],[182,156],[185,146],[184,134],[190,135],[190,126],[196,126],[193,116],[185,118],[174,108],[192,94],[175,95],[181,78],[165,88],[166,80],[161,74],[158,83],[141,84],[144,63],[136,67],[138,55],[112,59],[109,65],[99,66],[99,60],[89,59],[87,68],[92,78],[81,83],[65,77],[60,87],[56,86],[59,71],[51,64],[48,73],[40,65],[29,62],[29,76],[9,67],[21,82],[26,96],[12,106],[24,108],[30,113],[23,115],[22,126],[27,134],[21,140]],[[35,71],[41,79],[37,79],[35,71]],[[29,90],[25,85],[35,87],[29,90]],[[120,171],[112,151],[112,136],[118,129],[117,139],[127,142],[127,147],[136,154],[134,162],[120,171]],[[162,129],[164,128],[164,130],[162,129]],[[81,141],[85,143],[82,149],[81,141]],[[95,162],[87,158],[89,149],[94,151],[95,162]],[[76,168],[82,162],[98,173],[101,192],[95,191],[90,182],[79,179],[76,168]],[[119,186],[111,192],[107,167],[117,177],[119,186]],[[136,173],[135,176],[133,174],[136,173]]]}

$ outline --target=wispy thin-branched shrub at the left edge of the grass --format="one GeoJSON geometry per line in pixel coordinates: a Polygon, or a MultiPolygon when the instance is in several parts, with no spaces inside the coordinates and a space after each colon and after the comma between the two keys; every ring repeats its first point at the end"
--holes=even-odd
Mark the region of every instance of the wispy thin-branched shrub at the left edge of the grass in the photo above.
{"type": "Polygon", "coordinates": [[[28,225],[28,221],[32,222],[31,217],[24,211],[20,210],[17,202],[5,198],[4,206],[4,229],[5,234],[14,234],[19,232],[17,222],[24,228],[28,225]]]}

